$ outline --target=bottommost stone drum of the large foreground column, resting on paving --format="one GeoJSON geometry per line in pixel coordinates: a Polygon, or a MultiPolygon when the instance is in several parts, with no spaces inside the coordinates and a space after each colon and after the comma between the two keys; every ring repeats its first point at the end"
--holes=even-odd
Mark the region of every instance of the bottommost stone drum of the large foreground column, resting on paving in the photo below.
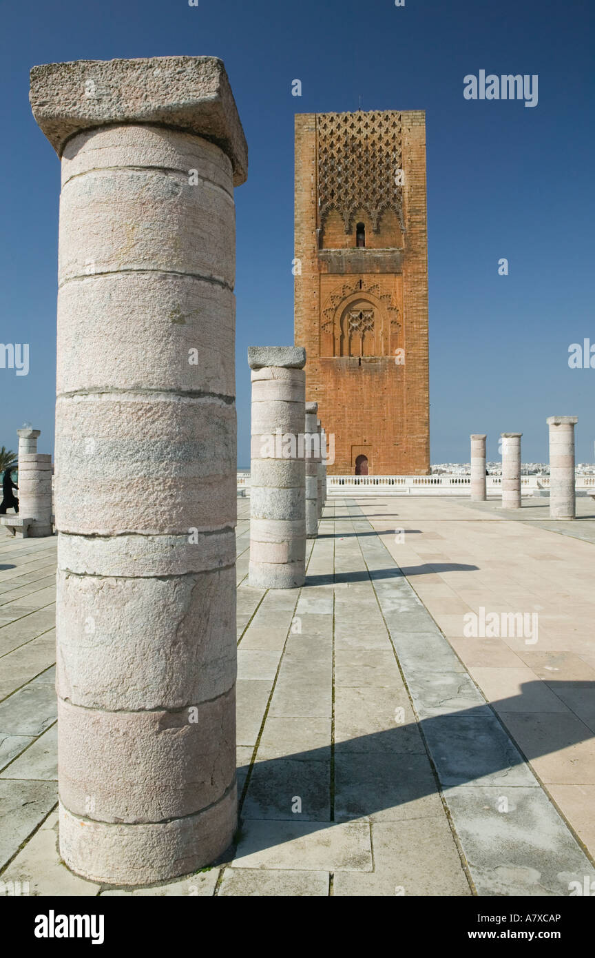
{"type": "Polygon", "coordinates": [[[91,821],[59,805],[59,851],[66,865],[91,881],[146,885],[194,873],[231,845],[237,793],[173,821],[121,825],[91,821]]]}

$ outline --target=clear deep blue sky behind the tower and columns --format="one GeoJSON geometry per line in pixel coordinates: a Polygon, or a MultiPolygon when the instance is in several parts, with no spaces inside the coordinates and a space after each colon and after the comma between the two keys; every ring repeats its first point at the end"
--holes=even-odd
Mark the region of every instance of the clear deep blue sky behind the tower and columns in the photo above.
{"type": "Polygon", "coordinates": [[[33,121],[29,69],[83,58],[213,55],[250,148],[236,190],[238,460],[249,461],[247,347],[293,342],[294,113],[425,109],[431,461],[469,460],[469,434],[522,431],[547,461],[551,415],[577,415],[593,462],[595,369],[568,346],[593,322],[592,4],[565,0],[101,0],[0,4],[4,343],[0,445],[54,444],[59,164],[33,121]],[[463,78],[537,74],[539,103],[467,101],[463,78]],[[291,94],[292,80],[302,96],[291,94]],[[509,275],[498,276],[500,258],[509,275]]]}

